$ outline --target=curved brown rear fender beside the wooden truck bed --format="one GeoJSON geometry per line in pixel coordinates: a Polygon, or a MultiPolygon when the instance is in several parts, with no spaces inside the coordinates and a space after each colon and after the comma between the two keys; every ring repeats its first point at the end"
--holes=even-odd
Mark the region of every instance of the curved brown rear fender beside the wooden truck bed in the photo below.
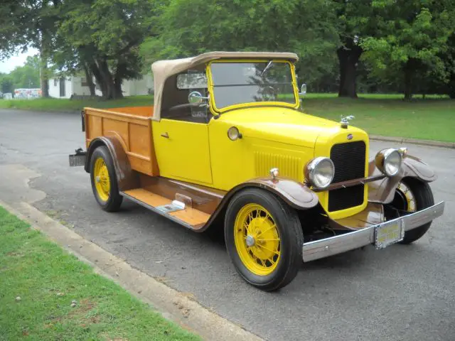
{"type": "Polygon", "coordinates": [[[130,190],[139,187],[139,177],[132,170],[127,153],[125,153],[122,143],[116,136],[100,136],[90,142],[85,159],[85,171],[90,173],[90,159],[96,148],[106,146],[109,149],[112,160],[114,161],[115,175],[119,190],[130,190]]]}

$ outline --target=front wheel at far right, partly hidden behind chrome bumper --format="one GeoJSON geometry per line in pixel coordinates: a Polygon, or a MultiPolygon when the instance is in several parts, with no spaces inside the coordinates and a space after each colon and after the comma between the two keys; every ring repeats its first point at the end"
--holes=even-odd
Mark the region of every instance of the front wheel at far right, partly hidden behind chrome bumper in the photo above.
{"type": "MultiPolygon", "coordinates": [[[[392,207],[405,212],[417,212],[434,205],[432,188],[415,178],[405,178],[395,190],[395,197],[391,203],[392,207]]],[[[405,238],[401,244],[411,244],[420,239],[429,229],[432,222],[427,222],[405,232],[405,238]]]]}

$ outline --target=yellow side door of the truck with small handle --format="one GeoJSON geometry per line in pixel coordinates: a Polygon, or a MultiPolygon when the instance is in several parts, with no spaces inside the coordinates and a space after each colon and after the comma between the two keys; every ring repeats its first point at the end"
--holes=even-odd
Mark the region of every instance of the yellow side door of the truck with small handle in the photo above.
{"type": "Polygon", "coordinates": [[[161,119],[151,129],[161,176],[212,185],[207,124],[161,119]]]}

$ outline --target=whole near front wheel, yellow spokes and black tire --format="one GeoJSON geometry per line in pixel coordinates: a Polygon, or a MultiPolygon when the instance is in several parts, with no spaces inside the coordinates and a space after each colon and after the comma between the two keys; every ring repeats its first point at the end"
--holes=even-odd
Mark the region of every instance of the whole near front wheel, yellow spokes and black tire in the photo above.
{"type": "Polygon", "coordinates": [[[304,236],[296,212],[272,193],[243,190],[231,200],[225,242],[237,272],[264,291],[287,286],[299,271],[304,236]]]}

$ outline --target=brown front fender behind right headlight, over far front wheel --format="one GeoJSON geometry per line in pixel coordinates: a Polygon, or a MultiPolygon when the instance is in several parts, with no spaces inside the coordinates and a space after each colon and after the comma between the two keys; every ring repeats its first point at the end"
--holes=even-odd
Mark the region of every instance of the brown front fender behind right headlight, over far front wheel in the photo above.
{"type": "MultiPolygon", "coordinates": [[[[380,171],[375,166],[375,161],[370,160],[369,175],[380,175],[380,171]]],[[[415,156],[407,155],[403,158],[402,168],[400,173],[392,178],[384,178],[382,180],[373,181],[368,183],[368,201],[381,202],[387,204],[392,202],[395,196],[400,181],[403,178],[417,178],[426,183],[431,183],[437,179],[436,172],[424,161],[416,158],[415,156]]]]}

